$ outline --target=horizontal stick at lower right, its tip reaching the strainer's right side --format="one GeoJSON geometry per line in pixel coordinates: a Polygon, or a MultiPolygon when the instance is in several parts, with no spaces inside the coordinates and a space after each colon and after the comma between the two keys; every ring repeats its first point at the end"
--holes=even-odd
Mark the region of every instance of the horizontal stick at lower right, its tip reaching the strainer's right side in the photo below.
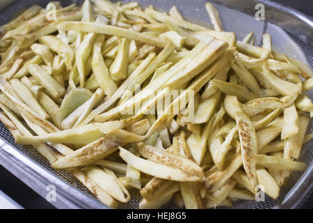
{"type": "Polygon", "coordinates": [[[255,157],[258,167],[288,171],[304,171],[307,168],[307,164],[304,162],[295,162],[286,158],[269,155],[256,155],[255,157]]]}

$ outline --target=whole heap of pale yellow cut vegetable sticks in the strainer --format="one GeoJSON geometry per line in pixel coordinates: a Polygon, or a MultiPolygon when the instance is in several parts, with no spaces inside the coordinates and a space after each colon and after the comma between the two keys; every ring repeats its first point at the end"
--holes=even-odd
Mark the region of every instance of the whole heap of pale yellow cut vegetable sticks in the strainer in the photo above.
{"type": "Polygon", "coordinates": [[[253,33],[236,40],[211,3],[214,30],[175,6],[49,4],[0,27],[0,121],[107,206],[131,190],[139,208],[231,207],[258,189],[277,199],[306,169],[294,159],[312,138],[313,72],[268,34],[262,47],[253,33]]]}

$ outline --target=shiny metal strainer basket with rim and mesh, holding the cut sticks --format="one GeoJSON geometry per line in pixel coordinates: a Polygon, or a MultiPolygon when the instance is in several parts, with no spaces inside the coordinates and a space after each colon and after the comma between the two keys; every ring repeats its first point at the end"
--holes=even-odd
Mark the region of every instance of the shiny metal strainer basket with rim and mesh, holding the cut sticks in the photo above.
{"type": "MultiPolygon", "coordinates": [[[[11,0],[9,6],[0,13],[0,24],[10,21],[24,8],[38,4],[47,6],[49,0],[11,0]]],[[[138,0],[137,0],[138,1],[138,0]]],[[[122,1],[127,3],[129,1],[122,1]]],[[[63,6],[81,1],[61,1],[63,6]]],[[[212,28],[204,8],[204,0],[140,0],[141,6],[153,5],[161,11],[168,11],[172,6],[177,6],[182,15],[196,24],[212,28]]],[[[313,68],[313,22],[312,18],[288,7],[270,1],[251,0],[214,0],[214,6],[220,13],[225,31],[234,31],[239,40],[247,33],[255,32],[255,45],[262,44],[262,33],[272,36],[275,52],[287,54],[303,61],[313,68]],[[265,20],[255,19],[255,6],[263,3],[265,6],[265,20]]],[[[309,93],[313,97],[312,93],[309,93]]],[[[312,121],[307,132],[312,132],[312,121]]],[[[313,142],[303,146],[299,160],[308,164],[307,170],[293,172],[287,184],[281,188],[280,197],[273,200],[266,197],[263,202],[236,201],[234,208],[297,208],[311,194],[313,183],[313,142]]],[[[24,183],[33,188],[42,197],[47,195],[47,186],[56,187],[56,201],[52,202],[57,208],[107,208],[79,183],[67,171],[55,171],[49,163],[36,153],[31,147],[15,144],[10,132],[0,123],[0,164],[20,178],[24,183]]],[[[132,192],[129,203],[120,205],[120,208],[138,208],[141,199],[138,192],[132,192]]],[[[163,208],[175,208],[173,203],[168,203],[163,208]]]]}

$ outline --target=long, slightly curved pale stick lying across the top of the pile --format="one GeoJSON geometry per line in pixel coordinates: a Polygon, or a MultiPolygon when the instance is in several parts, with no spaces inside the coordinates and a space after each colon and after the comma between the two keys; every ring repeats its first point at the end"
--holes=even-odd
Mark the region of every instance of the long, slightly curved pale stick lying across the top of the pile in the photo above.
{"type": "Polygon", "coordinates": [[[156,45],[157,47],[166,47],[166,45],[168,45],[168,41],[166,40],[153,38],[143,33],[138,33],[136,31],[131,31],[129,29],[124,29],[117,26],[96,24],[93,22],[61,22],[61,24],[59,24],[57,28],[64,31],[76,30],[89,33],[102,33],[106,35],[115,35],[124,38],[129,38],[131,40],[137,40],[143,43],[149,43],[151,45],[156,45]]]}

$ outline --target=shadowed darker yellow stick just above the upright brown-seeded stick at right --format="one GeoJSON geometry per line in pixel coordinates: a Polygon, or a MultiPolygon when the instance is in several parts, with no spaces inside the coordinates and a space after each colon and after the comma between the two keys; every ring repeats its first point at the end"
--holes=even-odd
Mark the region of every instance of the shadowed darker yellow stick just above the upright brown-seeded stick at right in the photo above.
{"type": "Polygon", "coordinates": [[[217,86],[220,91],[223,91],[223,93],[226,93],[228,95],[236,95],[236,97],[238,97],[238,99],[243,102],[257,98],[257,95],[255,95],[255,93],[247,91],[242,86],[239,86],[237,84],[223,82],[218,79],[212,79],[210,83],[217,86]]]}

